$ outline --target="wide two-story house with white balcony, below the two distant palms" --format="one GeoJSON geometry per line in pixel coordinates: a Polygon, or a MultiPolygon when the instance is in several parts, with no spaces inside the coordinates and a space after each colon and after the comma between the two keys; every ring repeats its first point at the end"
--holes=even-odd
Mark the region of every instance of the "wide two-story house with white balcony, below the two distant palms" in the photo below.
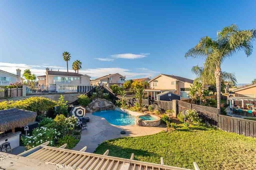
{"type": "Polygon", "coordinates": [[[46,75],[38,76],[38,90],[50,92],[88,92],[90,76],[75,72],[52,71],[46,68],[46,75]]]}

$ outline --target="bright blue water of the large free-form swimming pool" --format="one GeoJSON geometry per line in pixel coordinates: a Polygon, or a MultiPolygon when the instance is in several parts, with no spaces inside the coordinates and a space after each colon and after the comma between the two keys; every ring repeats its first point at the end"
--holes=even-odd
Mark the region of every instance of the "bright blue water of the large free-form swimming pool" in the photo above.
{"type": "Polygon", "coordinates": [[[134,125],[135,117],[122,111],[106,110],[96,111],[92,115],[104,117],[110,124],[118,126],[134,125]]]}

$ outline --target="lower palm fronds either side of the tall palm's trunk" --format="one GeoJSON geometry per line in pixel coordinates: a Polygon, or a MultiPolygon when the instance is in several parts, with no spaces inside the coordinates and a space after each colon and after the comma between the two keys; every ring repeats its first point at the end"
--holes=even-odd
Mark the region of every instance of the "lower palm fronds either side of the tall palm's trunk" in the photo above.
{"type": "MultiPolygon", "coordinates": [[[[196,79],[199,82],[202,82],[203,85],[213,85],[216,84],[216,78],[214,76],[214,68],[209,69],[209,68],[204,68],[201,66],[193,66],[191,71],[196,74],[196,79]]],[[[229,82],[230,84],[234,84],[236,86],[237,80],[236,76],[234,73],[226,72],[223,71],[221,73],[221,78],[220,80],[222,82],[229,82]]]]}

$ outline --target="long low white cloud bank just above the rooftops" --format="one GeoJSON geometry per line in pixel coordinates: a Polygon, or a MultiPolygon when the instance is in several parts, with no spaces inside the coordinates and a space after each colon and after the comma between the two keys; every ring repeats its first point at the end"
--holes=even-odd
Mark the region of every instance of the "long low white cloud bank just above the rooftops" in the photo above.
{"type": "MultiPolygon", "coordinates": [[[[61,66],[49,66],[48,64],[44,64],[44,66],[38,66],[38,65],[30,65],[30,64],[17,64],[17,63],[1,63],[0,62],[0,68],[1,70],[16,74],[16,69],[20,68],[22,70],[22,74],[25,69],[30,69],[32,74],[36,74],[36,76],[45,75],[45,68],[46,65],[48,68],[52,70],[58,70],[66,72],[66,67],[61,66]]],[[[70,72],[74,72],[74,70],[69,69],[70,72]]],[[[135,68],[134,70],[129,70],[127,68],[118,68],[118,67],[112,67],[112,68],[88,68],[88,69],[81,69],[79,70],[80,74],[87,74],[91,76],[91,80],[94,78],[98,78],[101,76],[105,76],[107,74],[115,74],[115,73],[122,74],[123,76],[126,76],[126,79],[131,78],[142,78],[142,77],[150,77],[150,76],[156,76],[159,74],[156,71],[147,69],[147,68],[135,68]]]]}

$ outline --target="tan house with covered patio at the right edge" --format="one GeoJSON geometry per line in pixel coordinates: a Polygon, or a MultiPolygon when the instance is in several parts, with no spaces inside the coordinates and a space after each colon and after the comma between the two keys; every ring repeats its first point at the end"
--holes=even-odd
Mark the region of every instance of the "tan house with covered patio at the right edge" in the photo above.
{"type": "Polygon", "coordinates": [[[256,84],[233,90],[234,96],[229,97],[230,106],[238,105],[246,108],[246,104],[256,104],[256,84]]]}

